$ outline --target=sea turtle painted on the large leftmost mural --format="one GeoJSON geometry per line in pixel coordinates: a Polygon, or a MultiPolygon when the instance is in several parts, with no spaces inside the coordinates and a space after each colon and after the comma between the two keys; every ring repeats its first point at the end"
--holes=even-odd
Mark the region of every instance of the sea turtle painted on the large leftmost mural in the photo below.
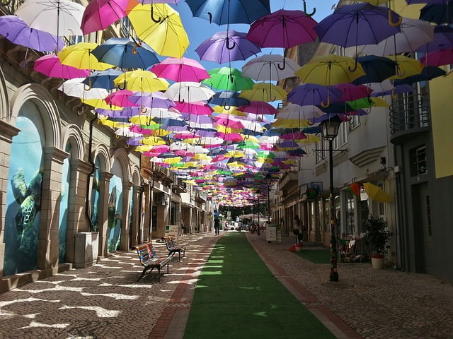
{"type": "Polygon", "coordinates": [[[23,167],[18,167],[11,178],[13,196],[19,205],[15,220],[21,251],[28,251],[30,244],[36,242],[37,234],[33,232],[32,226],[41,209],[41,185],[42,169],[35,173],[29,184],[25,182],[23,167]]]}

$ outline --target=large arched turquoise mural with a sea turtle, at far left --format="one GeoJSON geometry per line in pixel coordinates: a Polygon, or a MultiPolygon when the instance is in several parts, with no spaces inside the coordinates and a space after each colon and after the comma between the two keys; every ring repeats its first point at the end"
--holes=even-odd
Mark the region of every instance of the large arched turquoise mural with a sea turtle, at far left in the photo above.
{"type": "Polygon", "coordinates": [[[45,129],[33,102],[16,120],[6,191],[4,275],[34,270],[38,256],[45,129]]]}

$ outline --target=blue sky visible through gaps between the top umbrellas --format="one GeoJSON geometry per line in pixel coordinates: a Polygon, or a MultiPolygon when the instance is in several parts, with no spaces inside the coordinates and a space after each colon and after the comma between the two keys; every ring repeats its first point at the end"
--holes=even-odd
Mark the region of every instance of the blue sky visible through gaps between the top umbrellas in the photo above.
{"type": "MultiPolygon", "coordinates": [[[[312,11],[316,7],[316,13],[314,19],[316,21],[322,20],[324,17],[328,16],[333,12],[332,6],[336,4],[337,0],[306,0],[307,11],[312,11]]],[[[195,52],[195,49],[205,40],[209,39],[215,32],[222,32],[226,30],[226,25],[216,25],[215,23],[209,23],[208,20],[202,18],[196,18],[192,16],[192,12],[188,4],[185,1],[181,1],[178,5],[174,6],[176,11],[180,13],[181,20],[183,21],[184,28],[189,36],[190,46],[185,52],[185,57],[190,59],[195,59],[200,61],[200,57],[195,52]]],[[[297,9],[303,10],[303,1],[302,0],[270,0],[270,9],[271,11],[277,11],[279,9],[297,9]]],[[[247,32],[249,25],[242,24],[231,24],[230,29],[247,32]]],[[[283,50],[279,48],[265,48],[263,53],[268,54],[272,52],[273,54],[282,54],[283,50]]],[[[250,58],[251,59],[251,58],[250,58]]],[[[248,61],[249,59],[247,59],[248,61]]],[[[228,64],[217,64],[210,61],[200,61],[206,69],[213,69],[216,67],[228,66],[228,64]]],[[[234,61],[231,63],[232,67],[236,69],[241,69],[242,65],[246,61],[234,61]]]]}

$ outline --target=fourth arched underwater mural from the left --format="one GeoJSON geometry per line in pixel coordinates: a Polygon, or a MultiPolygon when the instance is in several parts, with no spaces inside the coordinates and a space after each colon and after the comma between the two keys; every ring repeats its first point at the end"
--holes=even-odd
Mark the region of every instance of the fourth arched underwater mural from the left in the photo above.
{"type": "Polygon", "coordinates": [[[110,179],[108,188],[108,229],[107,251],[112,253],[120,249],[121,226],[122,226],[122,169],[120,163],[115,160],[112,170],[113,177],[110,179]]]}

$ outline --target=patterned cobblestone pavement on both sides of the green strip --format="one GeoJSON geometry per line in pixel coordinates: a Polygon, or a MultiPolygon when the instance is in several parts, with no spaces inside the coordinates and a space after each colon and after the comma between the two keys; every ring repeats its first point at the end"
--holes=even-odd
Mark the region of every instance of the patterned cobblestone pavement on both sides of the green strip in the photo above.
{"type": "MultiPolygon", "coordinates": [[[[280,244],[266,243],[265,234],[247,237],[326,326],[344,321],[362,338],[453,338],[452,285],[429,275],[374,270],[370,263],[340,263],[340,283],[328,283],[328,265],[287,250],[292,237],[280,244]],[[333,316],[326,318],[326,310],[333,316]]],[[[186,256],[171,263],[161,283],[154,272],[137,283],[142,266],[129,251],[1,294],[0,338],[181,338],[197,274],[217,239],[180,238],[186,256]]],[[[166,254],[164,244],[155,245],[166,254]]],[[[352,338],[344,333],[338,338],[352,338]]]]}

